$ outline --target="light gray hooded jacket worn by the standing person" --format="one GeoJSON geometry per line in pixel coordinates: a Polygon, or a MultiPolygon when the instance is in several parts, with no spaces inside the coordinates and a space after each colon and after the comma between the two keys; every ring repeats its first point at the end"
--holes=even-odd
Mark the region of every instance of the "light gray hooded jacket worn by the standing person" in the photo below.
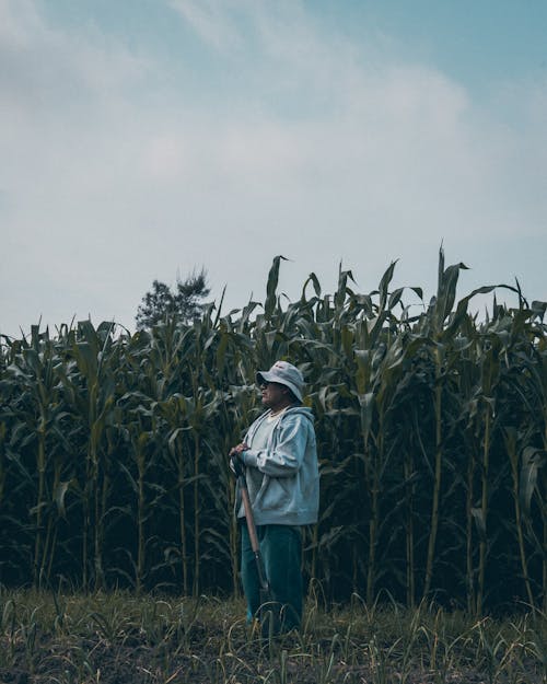
{"type": "MultiPolygon", "coordinates": [[[[310,408],[288,408],[274,427],[267,447],[253,449],[253,436],[271,411],[251,426],[243,452],[247,468],[258,468],[263,482],[252,505],[257,525],[307,525],[317,522],[319,469],[310,408]]],[[[240,510],[237,497],[235,510],[240,510]]]]}

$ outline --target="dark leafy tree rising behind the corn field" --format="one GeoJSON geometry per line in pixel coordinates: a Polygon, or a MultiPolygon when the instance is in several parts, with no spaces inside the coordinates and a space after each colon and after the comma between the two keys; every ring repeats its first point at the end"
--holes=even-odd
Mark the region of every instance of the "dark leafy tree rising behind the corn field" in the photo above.
{"type": "Polygon", "coordinates": [[[207,271],[203,268],[197,275],[193,273],[184,281],[177,279],[175,291],[164,282],[154,280],[152,290],[144,294],[137,310],[137,328],[151,328],[171,317],[188,323],[201,314],[205,306],[202,300],[209,292],[207,271]]]}

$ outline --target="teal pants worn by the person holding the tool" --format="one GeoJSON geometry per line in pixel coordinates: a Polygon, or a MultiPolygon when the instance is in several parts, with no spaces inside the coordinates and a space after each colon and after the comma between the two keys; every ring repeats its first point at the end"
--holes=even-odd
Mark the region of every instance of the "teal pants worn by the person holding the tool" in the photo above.
{"type": "MultiPolygon", "coordinates": [[[[298,628],[302,619],[302,535],[292,525],[257,525],[266,578],[271,599],[277,604],[279,628],[298,628]]],[[[242,583],[247,600],[247,622],[258,615],[260,593],[256,560],[251,547],[247,525],[242,524],[242,583]]]]}

